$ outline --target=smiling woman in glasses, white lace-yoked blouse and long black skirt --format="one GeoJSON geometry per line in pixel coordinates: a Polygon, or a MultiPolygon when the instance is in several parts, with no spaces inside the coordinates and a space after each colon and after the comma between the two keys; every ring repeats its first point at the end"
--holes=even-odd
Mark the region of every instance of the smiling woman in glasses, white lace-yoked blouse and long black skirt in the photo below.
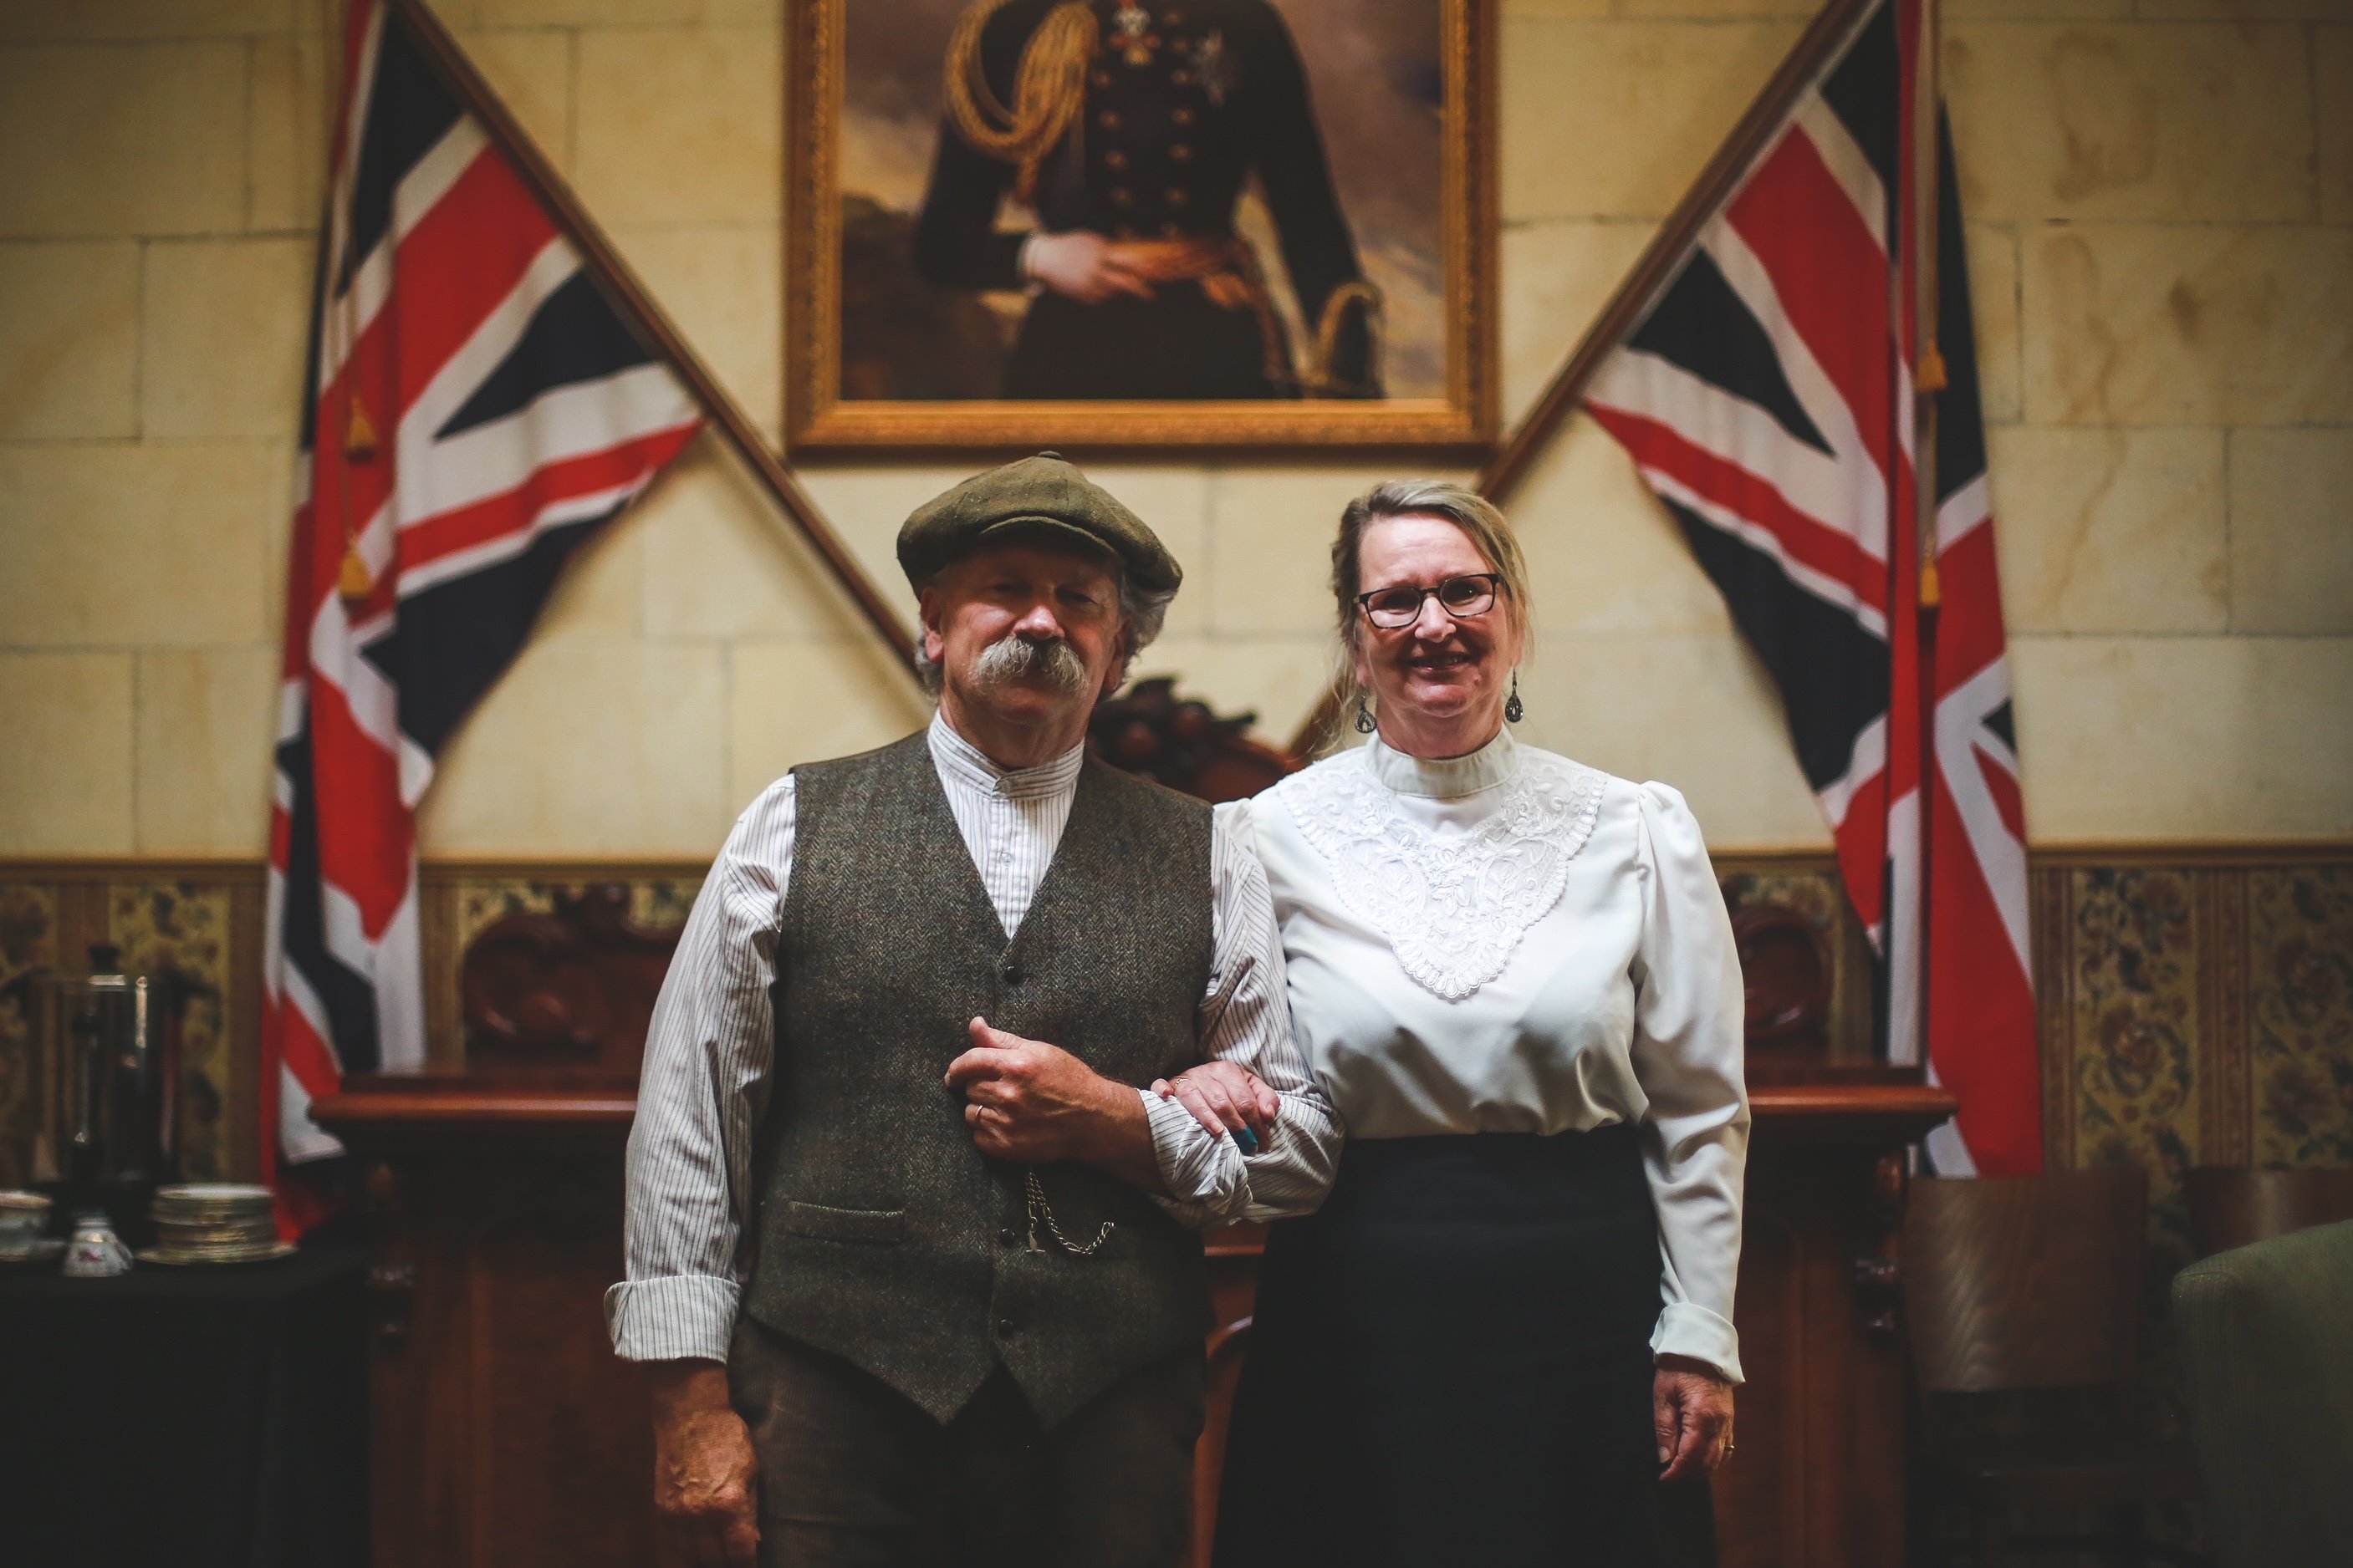
{"type": "MultiPolygon", "coordinates": [[[[1647,1563],[1739,1382],[1741,976],[1699,823],[1513,741],[1527,569],[1487,501],[1351,501],[1332,588],[1372,741],[1221,806],[1348,1147],[1268,1241],[1217,1563],[1647,1563]]],[[[1217,1072],[1172,1093],[1266,1126],[1217,1072]]]]}

